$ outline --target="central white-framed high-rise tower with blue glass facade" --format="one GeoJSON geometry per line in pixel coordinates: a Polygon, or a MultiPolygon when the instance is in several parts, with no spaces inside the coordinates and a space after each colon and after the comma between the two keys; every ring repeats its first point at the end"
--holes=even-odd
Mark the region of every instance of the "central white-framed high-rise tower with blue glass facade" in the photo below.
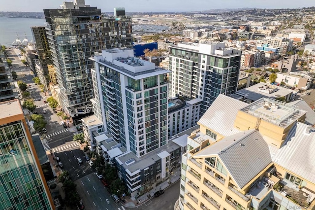
{"type": "Polygon", "coordinates": [[[140,157],[167,143],[169,70],[115,48],[95,55],[100,110],[113,139],[140,157]]]}

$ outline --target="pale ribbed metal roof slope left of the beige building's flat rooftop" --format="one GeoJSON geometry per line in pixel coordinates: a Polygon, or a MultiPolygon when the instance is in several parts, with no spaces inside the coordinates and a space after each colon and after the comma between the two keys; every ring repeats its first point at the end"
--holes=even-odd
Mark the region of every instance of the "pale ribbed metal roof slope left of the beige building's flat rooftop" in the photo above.
{"type": "Polygon", "coordinates": [[[240,132],[234,128],[237,111],[247,105],[244,102],[220,94],[198,121],[198,124],[225,137],[237,134],[240,132]]]}

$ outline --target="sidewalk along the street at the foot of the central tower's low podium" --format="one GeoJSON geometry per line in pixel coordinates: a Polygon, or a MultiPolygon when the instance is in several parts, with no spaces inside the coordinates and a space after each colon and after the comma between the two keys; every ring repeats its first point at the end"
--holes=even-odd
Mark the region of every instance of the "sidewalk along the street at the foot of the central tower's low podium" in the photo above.
{"type": "Polygon", "coordinates": [[[154,197],[154,193],[156,193],[158,190],[165,190],[172,184],[174,184],[176,181],[179,181],[181,177],[181,167],[176,169],[174,171],[174,174],[171,175],[170,180],[163,181],[162,183],[158,184],[156,187],[154,187],[150,192],[147,192],[137,199],[135,197],[125,198],[125,203],[121,203],[124,207],[132,208],[137,207],[145,203],[146,201],[150,200],[152,197],[154,197]]]}

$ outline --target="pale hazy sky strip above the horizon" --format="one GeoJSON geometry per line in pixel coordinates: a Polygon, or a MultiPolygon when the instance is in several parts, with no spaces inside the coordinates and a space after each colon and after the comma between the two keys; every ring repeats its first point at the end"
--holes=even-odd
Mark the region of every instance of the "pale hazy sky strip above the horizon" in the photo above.
{"type": "MultiPolygon", "coordinates": [[[[66,0],[71,1],[71,0],[66,0]]],[[[0,0],[0,11],[42,12],[57,9],[63,0],[0,0]]],[[[125,7],[126,12],[181,12],[222,8],[298,8],[315,6],[315,0],[85,0],[102,12],[125,7]]]]}

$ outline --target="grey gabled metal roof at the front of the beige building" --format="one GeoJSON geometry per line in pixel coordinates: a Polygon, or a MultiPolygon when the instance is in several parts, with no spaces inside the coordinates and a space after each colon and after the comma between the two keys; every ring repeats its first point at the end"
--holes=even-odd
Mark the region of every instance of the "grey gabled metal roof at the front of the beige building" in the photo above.
{"type": "Polygon", "coordinates": [[[268,144],[255,130],[226,137],[197,152],[193,157],[214,154],[219,156],[240,189],[272,162],[268,144]]]}

